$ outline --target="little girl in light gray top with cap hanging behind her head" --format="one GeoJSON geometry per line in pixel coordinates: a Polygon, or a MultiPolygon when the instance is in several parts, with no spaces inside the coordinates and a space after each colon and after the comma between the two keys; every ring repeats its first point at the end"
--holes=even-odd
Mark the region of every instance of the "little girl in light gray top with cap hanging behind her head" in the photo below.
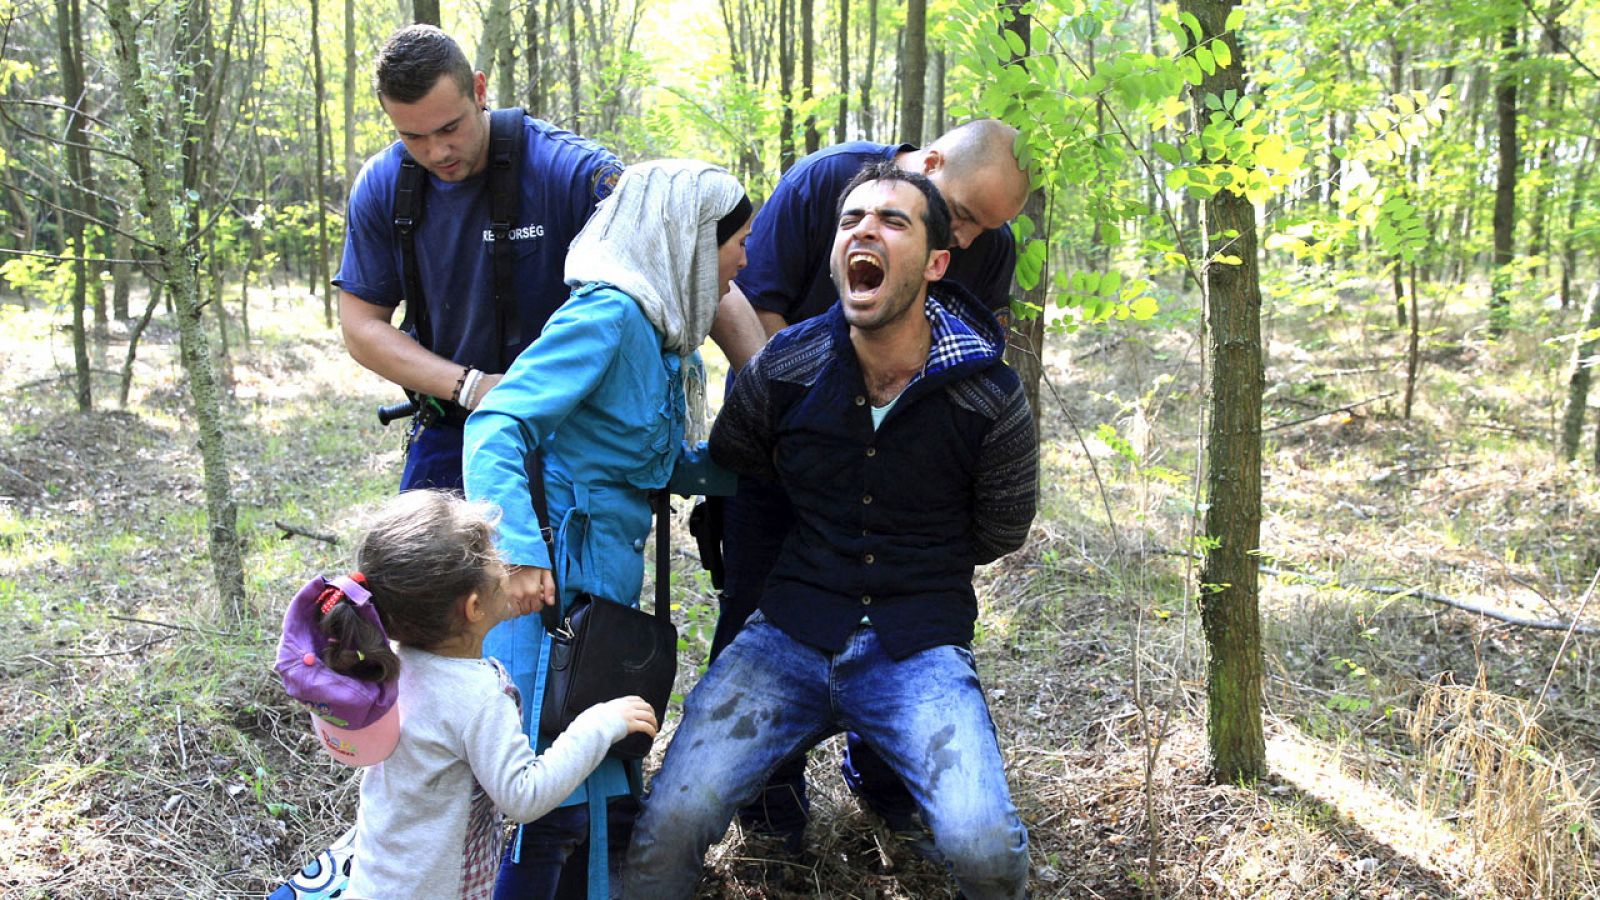
{"type": "MultiPolygon", "coordinates": [[[[490,897],[504,844],[501,814],[539,818],[614,741],[656,732],[650,703],[624,697],[587,709],[534,757],[515,687],[498,661],[480,658],[490,628],[517,615],[491,541],[483,506],[442,492],[402,493],[358,541],[360,575],[338,581],[349,589],[301,591],[317,604],[301,612],[320,617],[322,645],[302,655],[299,647],[280,650],[290,693],[317,713],[334,695],[347,697],[350,679],[398,689],[398,741],[362,778],[344,897],[490,897]],[[381,626],[360,609],[366,604],[381,626]],[[318,666],[331,673],[312,677],[318,666]],[[307,690],[312,682],[338,681],[342,693],[307,695],[317,693],[307,690]]],[[[285,647],[294,615],[291,607],[285,647]]],[[[322,727],[318,733],[336,753],[336,741],[322,727]]]]}

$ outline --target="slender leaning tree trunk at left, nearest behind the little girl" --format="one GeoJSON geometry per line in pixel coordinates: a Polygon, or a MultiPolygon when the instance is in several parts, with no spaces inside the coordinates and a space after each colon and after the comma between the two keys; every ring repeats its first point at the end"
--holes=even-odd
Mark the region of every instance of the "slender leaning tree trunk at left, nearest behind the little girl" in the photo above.
{"type": "Polygon", "coordinates": [[[130,141],[133,165],[139,178],[141,202],[150,223],[150,234],[160,243],[158,253],[165,280],[171,283],[171,295],[178,301],[181,360],[189,381],[189,397],[194,402],[195,426],[200,432],[211,572],[222,609],[238,618],[245,604],[245,565],[238,549],[238,508],[234,503],[234,487],[229,480],[221,397],[218,396],[216,375],[211,370],[211,351],[200,320],[195,261],[184,247],[186,242],[178,223],[173,221],[174,200],[186,205],[194,203],[194,200],[174,192],[162,176],[160,160],[165,154],[160,149],[154,120],[158,107],[150,102],[144,91],[139,42],[133,16],[128,11],[128,0],[109,0],[106,11],[114,35],[123,107],[130,110],[130,141]]]}

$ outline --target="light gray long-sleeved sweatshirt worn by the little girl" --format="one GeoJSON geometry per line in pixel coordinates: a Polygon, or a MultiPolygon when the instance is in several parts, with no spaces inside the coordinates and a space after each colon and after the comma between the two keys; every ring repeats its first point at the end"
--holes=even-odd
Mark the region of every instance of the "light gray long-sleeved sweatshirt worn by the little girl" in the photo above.
{"type": "Polygon", "coordinates": [[[400,652],[400,743],[362,778],[346,897],[490,897],[506,833],[557,807],[622,738],[621,716],[587,709],[542,756],[522,732],[496,661],[400,652]]]}

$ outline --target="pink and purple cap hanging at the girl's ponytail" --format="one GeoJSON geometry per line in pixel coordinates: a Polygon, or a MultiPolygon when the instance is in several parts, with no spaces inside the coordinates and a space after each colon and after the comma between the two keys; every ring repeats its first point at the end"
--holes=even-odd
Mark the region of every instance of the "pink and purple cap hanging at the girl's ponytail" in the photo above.
{"type": "MultiPolygon", "coordinates": [[[[317,577],[290,601],[283,613],[283,639],[278,642],[277,673],[283,690],[310,709],[310,725],[317,743],[333,759],[346,765],[373,765],[394,753],[400,741],[400,709],[395,706],[398,685],[371,682],[336,673],[323,661],[328,636],[322,633],[323,599],[338,591],[338,599],[355,604],[355,612],[382,631],[371,593],[360,577],[317,577]]],[[[331,605],[331,604],[330,604],[331,605]]]]}

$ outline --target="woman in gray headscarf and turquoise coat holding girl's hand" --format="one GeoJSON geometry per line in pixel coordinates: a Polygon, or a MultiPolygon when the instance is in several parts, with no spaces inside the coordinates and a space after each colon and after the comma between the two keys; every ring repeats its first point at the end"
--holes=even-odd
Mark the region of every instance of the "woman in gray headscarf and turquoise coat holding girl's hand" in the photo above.
{"type": "MultiPolygon", "coordinates": [[[[744,267],[750,202],[726,171],[661,160],[622,171],[566,256],[571,298],[467,420],[466,490],[502,509],[499,549],[522,612],[578,594],[638,604],[650,535],[648,492],[672,476],[678,450],[702,437],[706,376],[696,349],[717,303],[744,267]],[[555,559],[528,501],[523,458],[538,448],[555,559]]],[[[498,658],[522,692],[534,740],[549,636],[539,617],[502,623],[483,655],[498,658]]],[[[637,762],[606,759],[562,809],[518,828],[501,863],[496,897],[608,895],[627,849],[637,762]],[[632,769],[632,772],[629,772],[632,769]],[[610,815],[590,822],[589,810],[610,815]],[[610,820],[610,826],[600,820],[610,820]],[[589,854],[574,855],[584,841],[589,854]],[[606,852],[610,850],[610,854],[606,852]],[[608,857],[613,865],[608,865],[608,857]],[[571,865],[568,865],[568,862],[571,865]],[[565,876],[563,876],[565,866],[565,876]]]]}

